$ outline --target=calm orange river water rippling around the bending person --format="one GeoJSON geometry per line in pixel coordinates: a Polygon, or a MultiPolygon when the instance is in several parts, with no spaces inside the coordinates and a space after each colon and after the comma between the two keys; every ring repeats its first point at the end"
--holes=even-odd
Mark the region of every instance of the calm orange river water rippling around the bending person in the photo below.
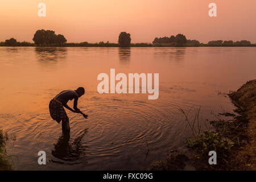
{"type": "MultiPolygon", "coordinates": [[[[0,128],[13,141],[15,169],[144,169],[168,150],[185,150],[184,116],[201,106],[201,124],[232,111],[225,93],[256,77],[256,49],[0,47],[0,128]],[[159,98],[99,94],[97,76],[159,73],[159,98]],[[49,115],[48,103],[65,89],[86,88],[79,108],[67,111],[70,135],[49,115]],[[47,165],[38,164],[46,151],[47,165]]],[[[69,106],[72,106],[72,102],[69,106]]]]}

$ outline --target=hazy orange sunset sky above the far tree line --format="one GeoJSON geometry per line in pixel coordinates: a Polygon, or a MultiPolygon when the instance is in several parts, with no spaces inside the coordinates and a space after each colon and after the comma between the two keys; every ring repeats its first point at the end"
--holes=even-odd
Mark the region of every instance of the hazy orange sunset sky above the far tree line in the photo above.
{"type": "Polygon", "coordinates": [[[11,37],[32,42],[36,30],[54,30],[68,42],[117,42],[131,34],[131,42],[152,42],[155,37],[187,36],[209,40],[250,40],[256,43],[255,0],[1,0],[0,42],[11,37]],[[38,3],[46,3],[46,17],[38,3]],[[218,17],[208,15],[217,4],[218,17]]]}

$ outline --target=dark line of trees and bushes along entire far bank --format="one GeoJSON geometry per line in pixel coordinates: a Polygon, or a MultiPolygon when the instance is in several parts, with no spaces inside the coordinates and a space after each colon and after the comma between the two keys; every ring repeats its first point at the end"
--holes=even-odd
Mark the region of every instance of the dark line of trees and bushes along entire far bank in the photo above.
{"type": "Polygon", "coordinates": [[[64,47],[225,47],[225,46],[256,46],[247,40],[233,42],[232,40],[213,40],[208,44],[200,43],[198,40],[189,40],[183,34],[164,36],[162,38],[155,38],[152,43],[131,43],[131,35],[126,32],[121,32],[118,36],[118,43],[99,42],[99,43],[67,43],[64,35],[55,34],[52,30],[38,30],[32,39],[34,43],[17,42],[16,39],[11,38],[0,42],[0,46],[64,46],[64,47]]]}

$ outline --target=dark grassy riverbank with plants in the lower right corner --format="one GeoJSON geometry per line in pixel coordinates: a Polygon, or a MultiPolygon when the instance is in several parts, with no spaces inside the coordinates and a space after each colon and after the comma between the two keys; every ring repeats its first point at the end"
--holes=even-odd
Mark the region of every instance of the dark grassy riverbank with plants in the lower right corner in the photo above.
{"type": "Polygon", "coordinates": [[[256,80],[228,95],[237,107],[236,114],[220,113],[226,119],[211,121],[214,130],[201,131],[200,109],[192,120],[181,109],[192,131],[186,140],[189,155],[170,151],[166,160],[154,162],[148,169],[183,170],[189,165],[196,170],[256,170],[256,80]],[[209,151],[216,151],[216,165],[209,165],[209,151]]]}

